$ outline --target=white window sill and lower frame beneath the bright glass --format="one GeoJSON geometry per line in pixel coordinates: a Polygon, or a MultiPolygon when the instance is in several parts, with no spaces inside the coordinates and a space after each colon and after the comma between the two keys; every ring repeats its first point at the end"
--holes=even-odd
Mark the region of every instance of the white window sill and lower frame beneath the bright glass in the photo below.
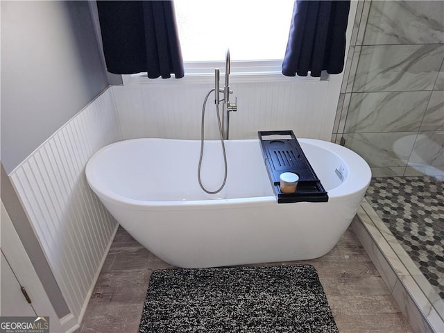
{"type": "MultiPolygon", "coordinates": [[[[284,76],[282,60],[232,61],[230,85],[236,83],[316,82],[311,76],[284,76]]],[[[225,62],[185,62],[185,76],[176,80],[146,78],[146,73],[122,75],[123,85],[183,85],[214,84],[214,69],[221,70],[221,84],[225,75],[225,62]]]]}

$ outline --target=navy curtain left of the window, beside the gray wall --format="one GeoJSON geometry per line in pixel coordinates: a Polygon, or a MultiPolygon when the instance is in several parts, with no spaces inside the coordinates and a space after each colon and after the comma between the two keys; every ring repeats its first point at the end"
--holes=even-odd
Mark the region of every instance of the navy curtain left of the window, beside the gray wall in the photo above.
{"type": "Polygon", "coordinates": [[[184,76],[173,1],[97,1],[97,8],[110,73],[184,76]]]}

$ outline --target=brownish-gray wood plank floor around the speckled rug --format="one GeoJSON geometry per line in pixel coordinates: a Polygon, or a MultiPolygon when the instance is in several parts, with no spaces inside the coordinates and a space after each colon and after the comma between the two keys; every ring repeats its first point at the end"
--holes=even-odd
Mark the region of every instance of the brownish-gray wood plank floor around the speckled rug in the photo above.
{"type": "MultiPolygon", "coordinates": [[[[339,332],[413,333],[350,229],[330,253],[303,263],[316,267],[339,332]]],[[[171,267],[119,228],[77,332],[137,333],[151,273],[171,267]]]]}

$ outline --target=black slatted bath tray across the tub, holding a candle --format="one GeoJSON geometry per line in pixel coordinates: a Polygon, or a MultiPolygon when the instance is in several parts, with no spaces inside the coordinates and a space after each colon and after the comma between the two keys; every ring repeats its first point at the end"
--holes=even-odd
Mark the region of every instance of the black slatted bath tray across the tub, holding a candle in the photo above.
{"type": "Polygon", "coordinates": [[[327,191],[314,173],[292,130],[262,130],[258,135],[265,166],[278,203],[328,201],[327,191]],[[293,172],[299,176],[295,193],[287,194],[280,191],[279,176],[283,172],[293,172]]]}

